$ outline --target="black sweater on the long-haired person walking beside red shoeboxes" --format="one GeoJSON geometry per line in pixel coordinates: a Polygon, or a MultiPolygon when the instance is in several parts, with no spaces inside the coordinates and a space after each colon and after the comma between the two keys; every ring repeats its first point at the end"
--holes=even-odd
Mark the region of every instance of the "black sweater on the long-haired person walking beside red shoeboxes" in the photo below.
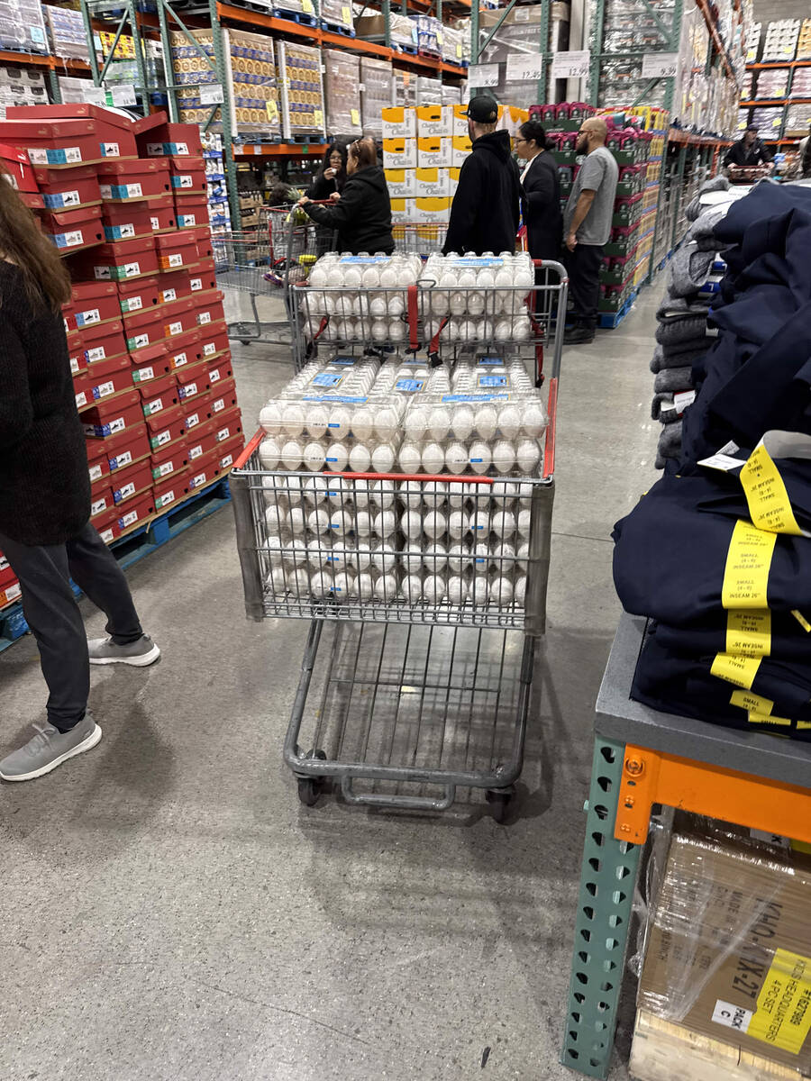
{"type": "Polygon", "coordinates": [[[88,455],[62,317],[32,310],[19,269],[0,259],[0,534],[61,545],[89,518],[88,455]]]}

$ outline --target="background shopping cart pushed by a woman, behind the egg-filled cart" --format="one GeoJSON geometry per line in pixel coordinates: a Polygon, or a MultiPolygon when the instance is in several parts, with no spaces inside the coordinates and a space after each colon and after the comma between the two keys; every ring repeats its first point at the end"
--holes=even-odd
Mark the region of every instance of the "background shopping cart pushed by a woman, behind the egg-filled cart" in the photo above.
{"type": "MultiPolygon", "coordinates": [[[[252,319],[228,323],[228,336],[242,345],[293,345],[290,289],[306,282],[316,261],[334,245],[334,235],[315,225],[294,205],[263,206],[255,229],[221,233],[213,240],[217,284],[247,295],[252,319]],[[262,319],[257,298],[281,305],[278,317],[262,319]]],[[[266,315],[275,316],[271,310],[266,315]]]]}

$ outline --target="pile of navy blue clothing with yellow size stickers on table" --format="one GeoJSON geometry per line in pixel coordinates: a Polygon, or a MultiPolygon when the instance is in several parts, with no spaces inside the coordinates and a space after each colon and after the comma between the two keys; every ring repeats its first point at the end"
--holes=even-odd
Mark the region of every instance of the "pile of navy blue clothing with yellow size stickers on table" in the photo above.
{"type": "Polygon", "coordinates": [[[614,531],[620,598],[651,619],[631,695],[811,740],[811,190],[759,185],[714,235],[678,472],[614,531]]]}

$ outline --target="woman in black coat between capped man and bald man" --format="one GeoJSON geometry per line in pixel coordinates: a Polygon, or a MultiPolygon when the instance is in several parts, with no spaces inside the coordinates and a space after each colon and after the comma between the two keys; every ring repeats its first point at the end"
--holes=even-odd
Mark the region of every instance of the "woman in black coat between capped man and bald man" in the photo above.
{"type": "Polygon", "coordinates": [[[546,149],[546,134],[537,120],[518,129],[518,157],[527,162],[521,173],[524,221],[533,259],[559,259],[563,239],[558,165],[546,149]]]}

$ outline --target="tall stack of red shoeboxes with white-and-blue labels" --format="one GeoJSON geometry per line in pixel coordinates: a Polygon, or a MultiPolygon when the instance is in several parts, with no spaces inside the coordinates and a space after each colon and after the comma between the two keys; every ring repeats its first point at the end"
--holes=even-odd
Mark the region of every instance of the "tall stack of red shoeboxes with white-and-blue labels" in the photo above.
{"type": "Polygon", "coordinates": [[[243,445],[200,134],[55,105],[9,108],[0,142],[70,269],[92,521],[110,543],[217,481],[243,445]]]}

